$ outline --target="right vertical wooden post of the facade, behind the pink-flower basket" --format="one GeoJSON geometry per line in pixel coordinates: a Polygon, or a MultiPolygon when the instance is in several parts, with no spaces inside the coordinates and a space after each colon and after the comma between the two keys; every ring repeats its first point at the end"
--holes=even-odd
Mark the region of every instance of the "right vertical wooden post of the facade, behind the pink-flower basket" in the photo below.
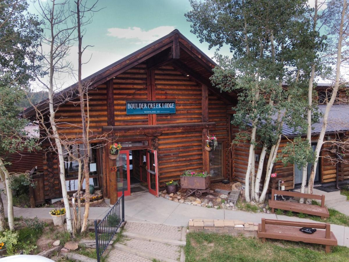
{"type": "MultiPolygon", "coordinates": [[[[202,122],[208,122],[208,88],[205,85],[201,86],[201,120],[202,122]]],[[[206,139],[208,136],[208,129],[202,129],[202,170],[204,172],[210,172],[209,151],[205,149],[206,139]]]]}

